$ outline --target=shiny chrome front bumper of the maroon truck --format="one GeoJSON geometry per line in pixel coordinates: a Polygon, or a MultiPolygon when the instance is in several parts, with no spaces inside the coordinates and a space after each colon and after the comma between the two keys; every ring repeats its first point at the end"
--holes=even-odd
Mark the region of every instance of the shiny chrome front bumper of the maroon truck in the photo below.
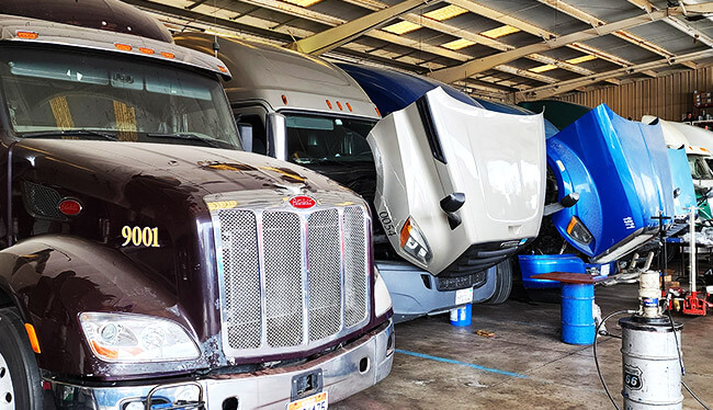
{"type": "Polygon", "coordinates": [[[87,387],[46,378],[45,401],[54,401],[56,409],[134,410],[146,409],[146,398],[150,394],[154,405],[150,409],[156,410],[284,410],[296,398],[295,380],[306,374],[320,374],[321,389],[305,396],[327,391],[329,402],[336,402],[377,384],[391,373],[394,342],[394,323],[389,320],[347,346],[295,366],[207,376],[184,383],[149,381],[131,387],[87,387]],[[199,401],[203,401],[204,407],[199,401]],[[226,403],[228,407],[224,407],[226,403]]]}

